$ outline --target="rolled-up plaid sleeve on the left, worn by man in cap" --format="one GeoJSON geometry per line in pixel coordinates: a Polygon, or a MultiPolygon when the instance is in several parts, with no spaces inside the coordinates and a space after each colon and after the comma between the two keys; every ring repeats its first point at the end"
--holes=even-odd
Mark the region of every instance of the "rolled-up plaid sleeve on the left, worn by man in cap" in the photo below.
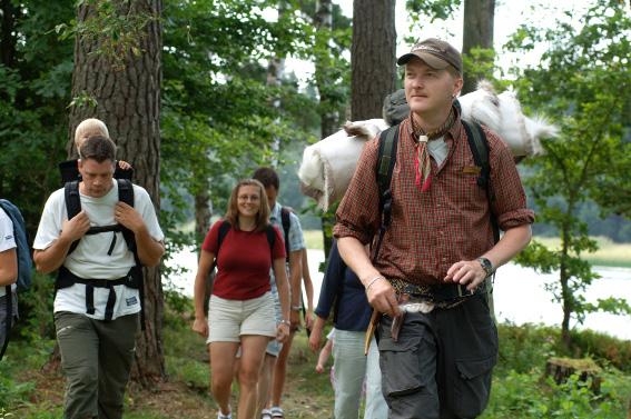
{"type": "Polygon", "coordinates": [[[368,141],[339,207],[333,236],[354,237],[368,243],[379,226],[379,191],[376,181],[378,137],[368,141]]]}

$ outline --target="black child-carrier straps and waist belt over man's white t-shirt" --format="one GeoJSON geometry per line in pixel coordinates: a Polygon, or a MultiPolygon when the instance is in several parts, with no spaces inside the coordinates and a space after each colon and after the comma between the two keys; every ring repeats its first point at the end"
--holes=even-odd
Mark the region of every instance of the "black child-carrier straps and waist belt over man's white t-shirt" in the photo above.
{"type": "MultiPolygon", "coordinates": [[[[134,184],[128,179],[117,179],[118,182],[118,200],[125,202],[130,207],[134,207],[134,184]]],[[[81,200],[79,197],[79,181],[75,180],[67,182],[63,187],[63,193],[66,198],[66,209],[68,212],[68,219],[72,219],[81,211],[81,200]]],[[[55,290],[63,289],[73,286],[75,283],[86,285],[86,311],[89,315],[95,313],[93,306],[93,289],[95,288],[109,288],[110,293],[106,306],[105,320],[111,320],[114,315],[114,305],[116,303],[116,292],[114,287],[117,285],[125,285],[129,288],[137,289],[140,293],[140,318],[141,327],[145,330],[145,286],[142,277],[142,265],[138,258],[138,249],[136,247],[136,238],[134,232],[121,225],[111,226],[97,226],[90,227],[86,235],[100,235],[106,232],[114,232],[111,245],[108,250],[108,255],[111,255],[114,247],[117,241],[117,232],[122,233],[122,238],[127,243],[127,248],[134,253],[134,260],[136,265],[129,270],[129,272],[118,279],[114,280],[102,280],[102,279],[91,279],[91,278],[80,278],[72,272],[70,272],[66,267],[61,266],[57,273],[57,280],[55,282],[55,290]]],[[[72,253],[77,246],[79,246],[79,240],[76,240],[70,245],[68,255],[72,253]]]]}

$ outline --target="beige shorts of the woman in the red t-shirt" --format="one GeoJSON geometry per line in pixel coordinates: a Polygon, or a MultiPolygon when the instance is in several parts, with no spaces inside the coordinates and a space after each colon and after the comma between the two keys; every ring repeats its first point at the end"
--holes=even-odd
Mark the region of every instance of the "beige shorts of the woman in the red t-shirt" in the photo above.
{"type": "Polygon", "coordinates": [[[243,335],[276,337],[274,299],[270,292],[250,300],[226,300],[210,296],[206,343],[240,342],[243,335]]]}

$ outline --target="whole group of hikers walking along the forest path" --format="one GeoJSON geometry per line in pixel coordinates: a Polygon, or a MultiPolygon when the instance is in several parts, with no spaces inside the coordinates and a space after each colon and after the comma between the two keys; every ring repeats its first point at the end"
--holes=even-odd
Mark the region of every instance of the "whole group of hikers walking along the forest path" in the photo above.
{"type": "MultiPolygon", "coordinates": [[[[369,419],[475,418],[486,407],[499,345],[492,277],[529,243],[534,213],[502,139],[461,119],[460,52],[426,39],[397,64],[405,108],[363,148],[336,212],[315,317],[300,221],[278,202],[275,170],[258,168],[237,182],[209,229],[191,328],[206,338],[219,419],[233,417],[235,380],[239,418],[285,417],[300,311],[314,351],[333,311],[316,370],[333,352],[335,418],[358,418],[362,392],[369,419]]],[[[45,204],[33,260],[40,272],[57,271],[65,418],[121,418],[145,323],[142,267],[160,262],[164,233],[105,123],[81,122],[75,144],[79,159],[60,164],[65,184],[45,204]]],[[[30,258],[19,211],[0,204],[6,347],[18,316],[14,282],[28,287],[30,258]]]]}

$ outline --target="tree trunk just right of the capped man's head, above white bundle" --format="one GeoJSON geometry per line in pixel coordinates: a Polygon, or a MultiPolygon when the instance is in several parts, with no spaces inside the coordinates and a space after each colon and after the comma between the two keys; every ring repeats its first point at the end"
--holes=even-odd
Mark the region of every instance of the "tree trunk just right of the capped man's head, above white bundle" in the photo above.
{"type": "MultiPolygon", "coordinates": [[[[463,56],[471,57],[474,48],[493,49],[495,0],[465,0],[463,20],[463,56]]],[[[462,94],[475,90],[480,80],[471,71],[464,72],[462,94]]]]}

